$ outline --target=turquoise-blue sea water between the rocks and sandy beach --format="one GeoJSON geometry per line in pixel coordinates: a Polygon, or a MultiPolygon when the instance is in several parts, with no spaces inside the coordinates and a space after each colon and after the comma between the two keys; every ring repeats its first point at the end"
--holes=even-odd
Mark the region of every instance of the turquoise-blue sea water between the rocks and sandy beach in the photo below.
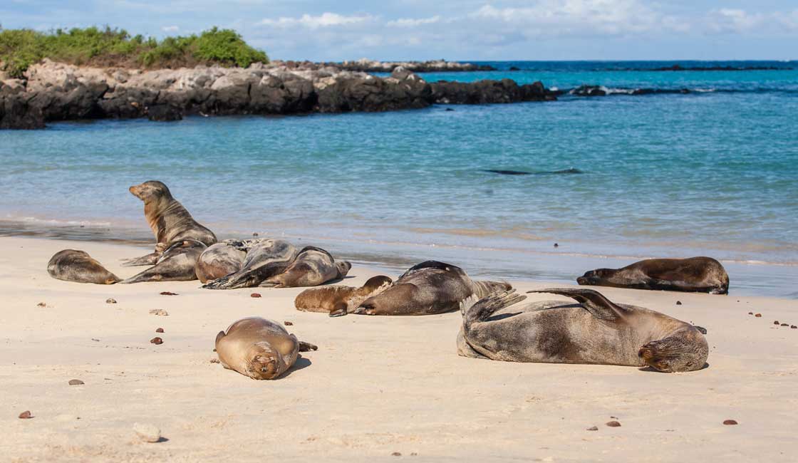
{"type": "Polygon", "coordinates": [[[639,258],[710,255],[733,295],[798,297],[798,62],[489,64],[500,70],[422,75],[617,94],[4,131],[0,234],[144,243],[127,188],[162,180],[219,235],[286,236],[397,270],[434,258],[572,282],[639,258]],[[624,94],[642,88],[691,93],[624,94]],[[582,173],[547,173],[567,169],[582,173]]]}

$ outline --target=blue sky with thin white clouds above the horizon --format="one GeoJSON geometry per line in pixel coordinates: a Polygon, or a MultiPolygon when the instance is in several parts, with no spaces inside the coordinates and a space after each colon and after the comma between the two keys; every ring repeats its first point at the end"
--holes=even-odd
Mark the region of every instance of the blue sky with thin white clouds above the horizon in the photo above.
{"type": "Polygon", "coordinates": [[[6,28],[239,30],[275,59],[796,59],[795,0],[0,0],[6,28]]]}

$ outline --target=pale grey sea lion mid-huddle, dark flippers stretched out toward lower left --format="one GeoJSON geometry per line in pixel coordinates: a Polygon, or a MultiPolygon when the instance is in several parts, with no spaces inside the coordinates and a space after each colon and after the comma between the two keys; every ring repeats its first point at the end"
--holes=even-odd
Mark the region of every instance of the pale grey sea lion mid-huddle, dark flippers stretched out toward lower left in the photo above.
{"type": "Polygon", "coordinates": [[[239,271],[211,280],[206,289],[256,287],[269,277],[279,275],[294,262],[297,248],[283,239],[252,239],[245,242],[247,257],[239,271]]]}

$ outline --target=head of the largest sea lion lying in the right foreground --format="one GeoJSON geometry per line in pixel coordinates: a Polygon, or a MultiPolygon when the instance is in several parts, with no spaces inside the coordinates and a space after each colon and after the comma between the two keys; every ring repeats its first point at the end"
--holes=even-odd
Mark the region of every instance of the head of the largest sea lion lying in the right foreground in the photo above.
{"type": "Polygon", "coordinates": [[[638,357],[647,366],[665,373],[701,370],[708,355],[706,338],[693,327],[667,338],[648,342],[638,351],[638,357]]]}

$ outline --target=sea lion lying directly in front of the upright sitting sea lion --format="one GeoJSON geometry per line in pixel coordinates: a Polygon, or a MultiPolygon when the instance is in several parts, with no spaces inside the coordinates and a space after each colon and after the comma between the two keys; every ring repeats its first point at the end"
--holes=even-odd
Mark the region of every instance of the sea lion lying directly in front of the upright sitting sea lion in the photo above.
{"type": "Polygon", "coordinates": [[[172,243],[156,264],[147,270],[124,279],[120,283],[144,283],[145,281],[191,281],[197,279],[196,263],[199,255],[207,249],[195,239],[184,239],[172,243]]]}

